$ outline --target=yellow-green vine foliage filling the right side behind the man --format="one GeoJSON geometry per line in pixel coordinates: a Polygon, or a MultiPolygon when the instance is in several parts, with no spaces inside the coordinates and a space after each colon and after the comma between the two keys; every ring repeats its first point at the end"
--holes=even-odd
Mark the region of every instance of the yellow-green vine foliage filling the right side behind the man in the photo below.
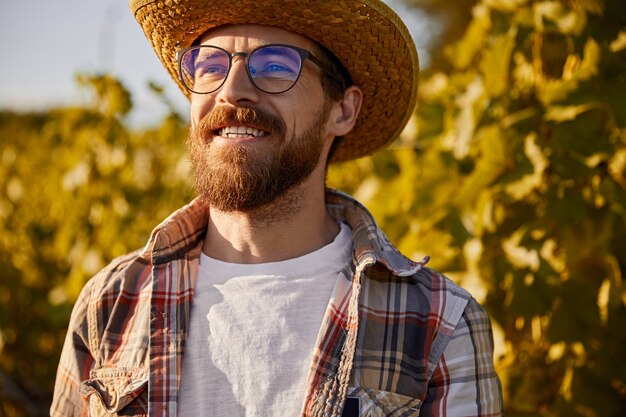
{"type": "Polygon", "coordinates": [[[623,2],[481,0],[445,55],[331,178],[486,306],[507,415],[626,415],[623,2]]]}

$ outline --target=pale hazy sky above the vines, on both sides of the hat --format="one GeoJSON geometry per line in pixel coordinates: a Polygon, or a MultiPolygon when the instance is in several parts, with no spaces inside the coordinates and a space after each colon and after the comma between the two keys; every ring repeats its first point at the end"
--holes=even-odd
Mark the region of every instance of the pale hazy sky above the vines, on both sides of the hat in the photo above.
{"type": "MultiPolygon", "coordinates": [[[[436,32],[433,23],[406,9],[401,0],[386,2],[409,27],[424,66],[424,46],[436,32]]],[[[133,124],[150,125],[167,113],[148,89],[149,81],[165,88],[181,114],[188,111],[127,0],[0,0],[0,56],[0,109],[80,104],[85,97],[76,74],[106,71],[131,91],[133,124]]]]}

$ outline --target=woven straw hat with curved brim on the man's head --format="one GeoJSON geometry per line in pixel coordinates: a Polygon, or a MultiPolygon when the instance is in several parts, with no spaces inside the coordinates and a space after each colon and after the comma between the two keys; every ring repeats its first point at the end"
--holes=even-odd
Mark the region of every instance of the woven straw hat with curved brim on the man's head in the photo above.
{"type": "Polygon", "coordinates": [[[379,0],[130,0],[130,9],[180,89],[176,52],[224,24],[278,26],[332,51],[363,90],[354,129],[333,162],[369,155],[395,139],[417,97],[419,63],[400,18],[379,0]]]}

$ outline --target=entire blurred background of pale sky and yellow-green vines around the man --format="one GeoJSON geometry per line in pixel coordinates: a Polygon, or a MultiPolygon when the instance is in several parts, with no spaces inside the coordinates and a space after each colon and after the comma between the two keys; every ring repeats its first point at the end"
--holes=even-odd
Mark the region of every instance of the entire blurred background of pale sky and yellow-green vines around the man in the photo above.
{"type": "MultiPolygon", "coordinates": [[[[388,4],[418,110],[329,185],[487,308],[507,415],[626,415],[623,0],[388,4]]],[[[86,280],[193,198],[187,104],[125,0],[3,1],[0,53],[0,416],[44,416],[86,280]]]]}

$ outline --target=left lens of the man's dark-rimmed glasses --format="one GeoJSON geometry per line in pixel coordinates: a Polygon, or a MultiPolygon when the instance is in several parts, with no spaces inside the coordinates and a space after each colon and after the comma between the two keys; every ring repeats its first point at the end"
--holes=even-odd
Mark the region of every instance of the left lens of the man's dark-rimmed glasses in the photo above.
{"type": "Polygon", "coordinates": [[[228,75],[228,54],[212,46],[198,46],[181,58],[181,76],[191,91],[210,93],[222,85],[228,75]]]}

